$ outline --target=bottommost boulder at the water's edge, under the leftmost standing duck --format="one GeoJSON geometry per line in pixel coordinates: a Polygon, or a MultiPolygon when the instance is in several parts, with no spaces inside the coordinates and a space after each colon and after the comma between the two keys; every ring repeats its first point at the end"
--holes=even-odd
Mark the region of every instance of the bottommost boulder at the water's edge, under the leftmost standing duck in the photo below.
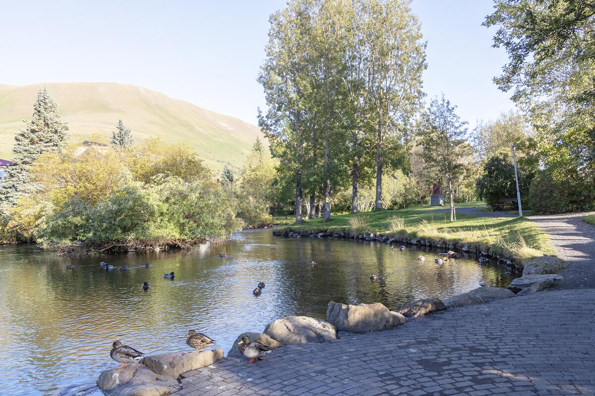
{"type": "Polygon", "coordinates": [[[177,379],[138,363],[102,371],[96,384],[108,396],[165,396],[180,388],[177,379]]]}

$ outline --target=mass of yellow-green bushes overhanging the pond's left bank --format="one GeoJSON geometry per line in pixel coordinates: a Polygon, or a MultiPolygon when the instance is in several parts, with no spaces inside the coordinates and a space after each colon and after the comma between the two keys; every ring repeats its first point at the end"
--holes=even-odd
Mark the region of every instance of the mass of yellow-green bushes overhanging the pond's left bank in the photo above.
{"type": "Polygon", "coordinates": [[[184,145],[77,148],[33,165],[39,188],[18,201],[10,229],[46,248],[140,249],[226,238],[242,227],[233,197],[184,145]]]}

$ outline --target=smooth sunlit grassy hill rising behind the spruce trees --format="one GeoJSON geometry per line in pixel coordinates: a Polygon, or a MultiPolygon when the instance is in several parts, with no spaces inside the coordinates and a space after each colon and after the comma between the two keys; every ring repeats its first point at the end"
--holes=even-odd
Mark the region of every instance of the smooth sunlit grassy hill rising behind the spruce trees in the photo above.
{"type": "MultiPolygon", "coordinates": [[[[10,159],[14,134],[30,119],[42,84],[0,85],[0,158],[10,159]]],[[[111,135],[118,119],[132,129],[137,140],[149,136],[186,142],[214,170],[227,164],[242,167],[258,127],[240,119],[201,109],[136,85],[117,83],[50,83],[46,85],[68,122],[73,140],[93,134],[111,135]]]]}

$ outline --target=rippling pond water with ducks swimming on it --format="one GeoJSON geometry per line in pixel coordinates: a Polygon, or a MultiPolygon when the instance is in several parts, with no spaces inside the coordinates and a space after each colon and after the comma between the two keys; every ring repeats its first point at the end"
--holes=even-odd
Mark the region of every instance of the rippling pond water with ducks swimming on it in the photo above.
{"type": "Polygon", "coordinates": [[[82,258],[0,245],[0,394],[90,386],[101,370],[117,365],[109,359],[115,340],[149,354],[180,351],[188,349],[187,330],[196,329],[227,353],[241,332],[262,331],[282,316],[324,319],[330,300],[396,309],[480,284],[506,287],[513,278],[504,266],[480,265],[475,255],[437,265],[436,252],[421,252],[425,262],[419,254],[383,243],[284,239],[271,230],[238,232],[226,245],[192,251],[82,258]],[[151,266],[105,271],[100,261],[151,266]],[[171,271],[174,280],[164,279],[171,271]],[[379,280],[371,281],[371,273],[379,280]],[[151,283],[147,292],[144,281],[151,283]],[[255,297],[259,281],[266,287],[255,297]]]}

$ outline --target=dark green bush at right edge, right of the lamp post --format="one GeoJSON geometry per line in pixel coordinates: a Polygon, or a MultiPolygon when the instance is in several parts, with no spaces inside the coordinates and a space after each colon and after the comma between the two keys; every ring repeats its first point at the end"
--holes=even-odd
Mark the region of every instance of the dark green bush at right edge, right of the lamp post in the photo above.
{"type": "Polygon", "coordinates": [[[595,208],[595,188],[574,168],[540,170],[533,182],[529,203],[537,213],[565,213],[595,208]]]}

